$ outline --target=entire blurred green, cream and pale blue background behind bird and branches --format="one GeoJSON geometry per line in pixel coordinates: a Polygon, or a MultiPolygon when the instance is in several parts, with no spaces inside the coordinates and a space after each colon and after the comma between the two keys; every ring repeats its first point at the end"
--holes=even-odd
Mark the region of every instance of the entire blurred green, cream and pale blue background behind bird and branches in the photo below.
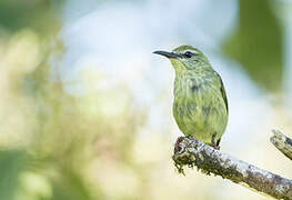
{"type": "Polygon", "coordinates": [[[292,178],[269,142],[292,132],[292,1],[1,0],[1,200],[264,197],[174,170],[174,71],[154,50],[192,44],[221,74],[221,149],[292,178]]]}

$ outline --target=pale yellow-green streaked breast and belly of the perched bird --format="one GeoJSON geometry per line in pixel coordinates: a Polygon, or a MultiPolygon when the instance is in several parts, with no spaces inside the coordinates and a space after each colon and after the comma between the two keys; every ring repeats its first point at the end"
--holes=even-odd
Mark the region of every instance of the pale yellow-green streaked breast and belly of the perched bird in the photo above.
{"type": "MultiPolygon", "coordinates": [[[[173,116],[185,136],[221,136],[226,111],[218,82],[213,79],[175,78],[173,116]]],[[[204,138],[201,138],[204,140],[204,138]]],[[[210,142],[210,141],[209,141],[210,142]]]]}

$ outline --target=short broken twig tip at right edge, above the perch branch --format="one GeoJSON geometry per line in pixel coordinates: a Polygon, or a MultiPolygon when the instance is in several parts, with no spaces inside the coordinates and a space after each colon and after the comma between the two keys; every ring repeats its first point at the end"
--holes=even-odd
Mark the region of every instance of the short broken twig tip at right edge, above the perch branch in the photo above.
{"type": "Polygon", "coordinates": [[[284,156],[292,160],[292,140],[284,136],[279,130],[272,130],[274,133],[270,141],[279,149],[284,156]]]}

